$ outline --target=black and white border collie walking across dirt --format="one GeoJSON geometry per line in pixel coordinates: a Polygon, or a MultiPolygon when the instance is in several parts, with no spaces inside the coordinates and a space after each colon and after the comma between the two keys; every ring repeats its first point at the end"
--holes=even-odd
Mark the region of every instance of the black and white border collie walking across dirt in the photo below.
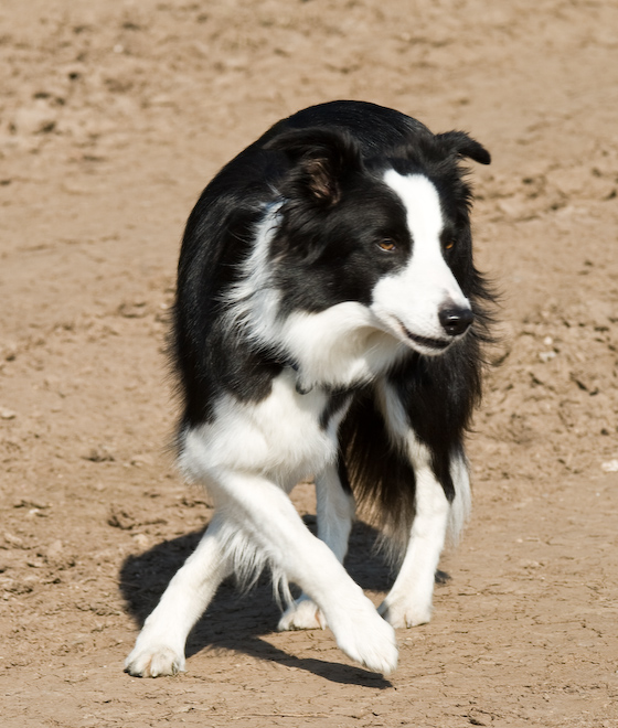
{"type": "Polygon", "coordinates": [[[490,161],[461,131],[333,101],[276,124],[203,192],[173,357],[180,467],[216,510],[146,620],[131,675],[183,671],[221,581],[266,564],[285,593],[303,591],[279,629],[328,624],[370,670],[395,668],[393,628],[430,619],[445,536],[469,508],[462,439],[492,298],[472,263],[466,157],[490,161]],[[318,538],[288,497],[309,475],[318,538]],[[342,566],[355,500],[402,555],[377,611],[342,566]]]}

